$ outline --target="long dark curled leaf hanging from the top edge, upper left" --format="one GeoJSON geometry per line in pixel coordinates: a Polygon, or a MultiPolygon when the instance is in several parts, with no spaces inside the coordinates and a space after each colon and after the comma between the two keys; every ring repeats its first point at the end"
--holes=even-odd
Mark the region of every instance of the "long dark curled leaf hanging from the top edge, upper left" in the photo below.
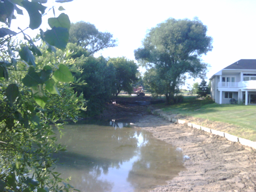
{"type": "Polygon", "coordinates": [[[29,13],[29,28],[30,29],[37,29],[42,23],[42,15],[47,7],[42,6],[40,3],[37,2],[30,2],[28,0],[24,0],[21,2],[23,7],[29,13]],[[41,13],[40,13],[40,12],[41,13]]]}

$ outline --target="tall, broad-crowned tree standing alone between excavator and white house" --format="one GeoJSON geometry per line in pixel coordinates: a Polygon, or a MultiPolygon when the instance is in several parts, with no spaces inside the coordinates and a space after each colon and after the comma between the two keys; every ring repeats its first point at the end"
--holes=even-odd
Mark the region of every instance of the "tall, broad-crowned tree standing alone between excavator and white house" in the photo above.
{"type": "Polygon", "coordinates": [[[143,40],[143,47],[134,51],[140,64],[157,71],[167,104],[174,102],[175,88],[186,73],[194,78],[205,76],[207,64],[201,61],[201,55],[212,50],[212,38],[206,33],[207,26],[197,18],[170,18],[152,28],[143,40]]]}

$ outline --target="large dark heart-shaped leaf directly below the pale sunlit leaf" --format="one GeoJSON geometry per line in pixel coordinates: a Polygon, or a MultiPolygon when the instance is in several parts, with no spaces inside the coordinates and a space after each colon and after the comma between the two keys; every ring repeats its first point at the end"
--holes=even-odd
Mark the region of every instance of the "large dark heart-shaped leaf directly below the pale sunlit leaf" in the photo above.
{"type": "Polygon", "coordinates": [[[44,40],[52,46],[55,46],[62,51],[66,48],[69,38],[67,28],[53,27],[51,30],[44,32],[44,40]]]}

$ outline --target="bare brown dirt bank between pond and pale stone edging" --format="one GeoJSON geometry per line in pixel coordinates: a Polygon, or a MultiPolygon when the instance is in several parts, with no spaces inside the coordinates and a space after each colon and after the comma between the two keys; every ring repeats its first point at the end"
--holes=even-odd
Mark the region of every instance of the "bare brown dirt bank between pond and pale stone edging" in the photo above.
{"type": "Polygon", "coordinates": [[[256,191],[256,151],[198,129],[172,124],[154,115],[142,116],[136,126],[181,148],[183,154],[190,158],[184,163],[186,171],[152,191],[256,191]]]}

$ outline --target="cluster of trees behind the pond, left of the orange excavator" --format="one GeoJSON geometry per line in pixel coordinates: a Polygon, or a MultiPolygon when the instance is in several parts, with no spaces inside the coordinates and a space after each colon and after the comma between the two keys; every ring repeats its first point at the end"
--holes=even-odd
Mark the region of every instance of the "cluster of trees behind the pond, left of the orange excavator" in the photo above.
{"type": "Polygon", "coordinates": [[[73,64],[81,69],[74,73],[83,85],[74,86],[74,91],[83,93],[87,110],[83,115],[94,116],[102,112],[105,103],[121,90],[132,92],[132,84],[138,80],[138,67],[124,57],[95,58],[99,50],[115,47],[116,40],[108,32],[99,32],[93,24],[80,21],[71,23],[67,50],[72,52],[73,64]]]}

